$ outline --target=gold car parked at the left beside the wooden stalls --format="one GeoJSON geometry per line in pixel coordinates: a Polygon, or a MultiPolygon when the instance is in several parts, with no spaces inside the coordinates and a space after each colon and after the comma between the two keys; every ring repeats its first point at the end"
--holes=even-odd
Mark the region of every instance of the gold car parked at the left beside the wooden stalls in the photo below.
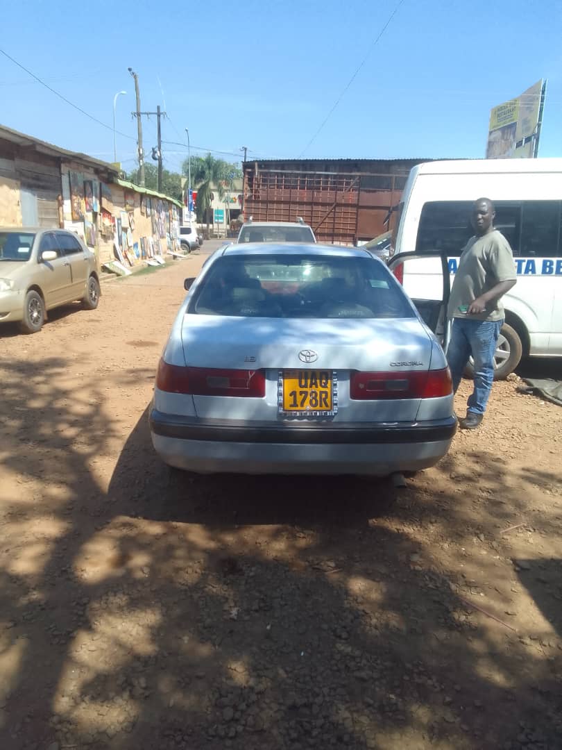
{"type": "Polygon", "coordinates": [[[37,333],[52,308],[81,300],[97,308],[96,258],[64,229],[0,228],[0,323],[37,333]]]}

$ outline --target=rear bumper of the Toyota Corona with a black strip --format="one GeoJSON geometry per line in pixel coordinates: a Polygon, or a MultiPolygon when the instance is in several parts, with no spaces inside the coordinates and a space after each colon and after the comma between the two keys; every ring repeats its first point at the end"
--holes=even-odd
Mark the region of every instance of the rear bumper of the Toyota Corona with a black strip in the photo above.
{"type": "Polygon", "coordinates": [[[170,466],[200,473],[369,474],[433,466],[449,450],[456,419],[396,425],[248,426],[152,410],[152,442],[170,466]]]}

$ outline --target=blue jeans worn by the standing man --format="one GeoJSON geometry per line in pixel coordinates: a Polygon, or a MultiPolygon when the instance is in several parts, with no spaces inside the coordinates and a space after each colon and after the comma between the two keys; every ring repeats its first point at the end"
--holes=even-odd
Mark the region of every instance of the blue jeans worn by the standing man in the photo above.
{"type": "Polygon", "coordinates": [[[486,411],[494,382],[494,354],[503,320],[453,318],[447,360],[453,376],[453,389],[459,388],[468,358],[474,359],[474,391],[468,397],[468,411],[486,411]]]}

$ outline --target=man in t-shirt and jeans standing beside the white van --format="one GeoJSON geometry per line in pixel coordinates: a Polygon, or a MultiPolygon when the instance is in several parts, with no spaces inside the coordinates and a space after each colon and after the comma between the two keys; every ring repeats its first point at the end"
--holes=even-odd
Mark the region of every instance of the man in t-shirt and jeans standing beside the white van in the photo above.
{"type": "Polygon", "coordinates": [[[453,281],[448,315],[453,321],[447,359],[453,389],[459,388],[468,358],[474,359],[474,391],[459,425],[474,430],[480,425],[494,380],[494,355],[504,323],[500,299],[517,281],[513,253],[507,239],[494,229],[494,204],[479,198],[472,208],[475,235],[461,251],[453,281]]]}

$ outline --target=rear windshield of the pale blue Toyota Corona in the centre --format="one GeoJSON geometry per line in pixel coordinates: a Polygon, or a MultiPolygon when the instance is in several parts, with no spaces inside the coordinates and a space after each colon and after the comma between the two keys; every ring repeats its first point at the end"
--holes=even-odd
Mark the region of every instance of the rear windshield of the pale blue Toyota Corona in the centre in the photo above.
{"type": "Polygon", "coordinates": [[[222,257],[188,313],[268,318],[414,317],[402,288],[378,260],[358,257],[222,257]]]}

